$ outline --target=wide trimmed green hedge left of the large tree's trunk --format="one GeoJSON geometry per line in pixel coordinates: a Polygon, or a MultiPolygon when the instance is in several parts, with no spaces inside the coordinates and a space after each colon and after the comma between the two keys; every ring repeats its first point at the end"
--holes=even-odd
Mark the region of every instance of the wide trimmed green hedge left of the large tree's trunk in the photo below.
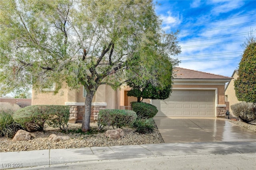
{"type": "Polygon", "coordinates": [[[69,118],[69,107],[59,105],[34,105],[19,109],[14,120],[27,131],[42,131],[47,123],[51,127],[66,130],[69,118]]]}

